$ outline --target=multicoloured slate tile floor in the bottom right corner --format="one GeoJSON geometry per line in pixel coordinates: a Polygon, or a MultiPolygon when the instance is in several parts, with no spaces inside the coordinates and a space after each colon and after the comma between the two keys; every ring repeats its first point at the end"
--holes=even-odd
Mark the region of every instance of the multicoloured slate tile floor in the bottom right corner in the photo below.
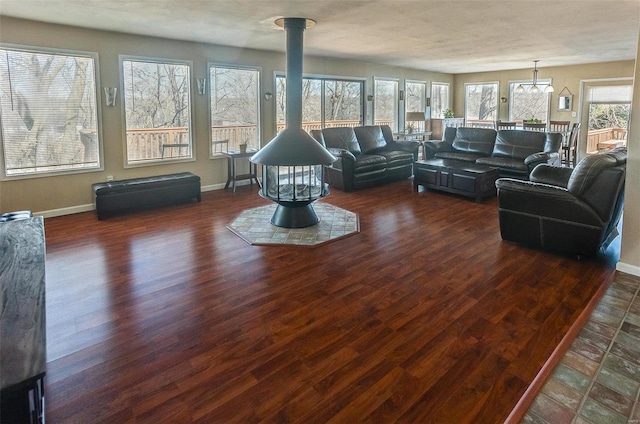
{"type": "Polygon", "coordinates": [[[522,423],[640,424],[640,277],[616,273],[522,423]]]}

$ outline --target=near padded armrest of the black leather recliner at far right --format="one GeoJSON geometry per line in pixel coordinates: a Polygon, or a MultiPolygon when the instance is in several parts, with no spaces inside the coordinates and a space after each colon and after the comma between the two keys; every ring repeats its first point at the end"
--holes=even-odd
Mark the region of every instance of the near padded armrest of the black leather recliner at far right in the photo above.
{"type": "Polygon", "coordinates": [[[593,208],[563,187],[515,178],[499,178],[496,187],[499,211],[577,222],[586,226],[602,225],[593,208]]]}

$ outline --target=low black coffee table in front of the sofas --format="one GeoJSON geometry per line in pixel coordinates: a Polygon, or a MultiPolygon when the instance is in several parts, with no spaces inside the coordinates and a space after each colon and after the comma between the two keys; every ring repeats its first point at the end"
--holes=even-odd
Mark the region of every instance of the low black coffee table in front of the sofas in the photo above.
{"type": "Polygon", "coordinates": [[[476,202],[496,195],[498,169],[451,159],[427,159],[413,163],[413,189],[418,186],[473,197],[476,202]]]}

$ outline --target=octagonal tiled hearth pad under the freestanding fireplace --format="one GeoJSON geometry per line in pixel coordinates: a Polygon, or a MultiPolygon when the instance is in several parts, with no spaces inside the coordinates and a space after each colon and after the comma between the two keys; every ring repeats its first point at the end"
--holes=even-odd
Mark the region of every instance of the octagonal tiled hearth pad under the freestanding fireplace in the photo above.
{"type": "Polygon", "coordinates": [[[280,228],[271,224],[277,205],[246,209],[227,228],[252,245],[295,245],[314,247],[360,232],[358,214],[327,203],[316,202],[320,219],[306,228],[280,228]]]}

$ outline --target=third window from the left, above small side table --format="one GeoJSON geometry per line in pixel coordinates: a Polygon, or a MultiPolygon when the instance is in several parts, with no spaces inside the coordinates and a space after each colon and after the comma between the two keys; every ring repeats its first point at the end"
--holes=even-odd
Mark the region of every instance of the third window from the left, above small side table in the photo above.
{"type": "Polygon", "coordinates": [[[260,147],[260,69],[209,64],[211,155],[260,147]]]}

